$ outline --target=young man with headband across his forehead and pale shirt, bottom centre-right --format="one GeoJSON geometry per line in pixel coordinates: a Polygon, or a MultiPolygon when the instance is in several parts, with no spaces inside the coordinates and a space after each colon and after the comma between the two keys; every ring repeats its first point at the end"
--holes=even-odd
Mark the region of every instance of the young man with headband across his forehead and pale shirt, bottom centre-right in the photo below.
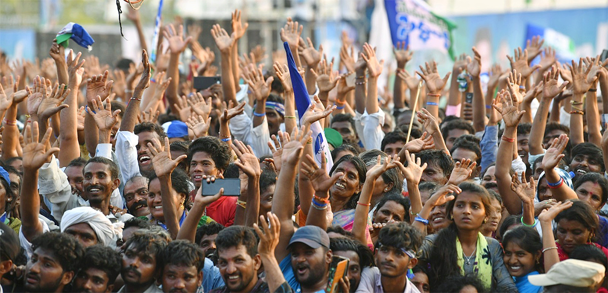
{"type": "Polygon", "coordinates": [[[378,267],[363,270],[356,292],[420,293],[407,278],[407,271],[418,263],[416,251],[422,243],[420,232],[406,222],[382,228],[375,251],[378,267]]]}

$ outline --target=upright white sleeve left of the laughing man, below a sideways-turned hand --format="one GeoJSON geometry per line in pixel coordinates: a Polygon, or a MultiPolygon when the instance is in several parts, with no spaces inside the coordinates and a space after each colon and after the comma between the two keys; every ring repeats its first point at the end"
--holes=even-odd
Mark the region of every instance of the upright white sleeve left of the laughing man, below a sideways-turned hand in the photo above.
{"type": "Polygon", "coordinates": [[[139,137],[130,131],[116,133],[116,159],[118,160],[123,183],[126,183],[133,176],[140,175],[139,163],[137,162],[137,143],[139,143],[139,137]]]}

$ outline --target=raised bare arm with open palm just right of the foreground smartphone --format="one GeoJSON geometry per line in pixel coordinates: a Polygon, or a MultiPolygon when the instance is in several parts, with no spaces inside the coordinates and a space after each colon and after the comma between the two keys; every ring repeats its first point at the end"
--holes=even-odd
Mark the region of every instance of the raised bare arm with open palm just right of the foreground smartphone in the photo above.
{"type": "Polygon", "coordinates": [[[235,140],[230,148],[238,157],[234,164],[247,175],[247,193],[238,197],[239,201],[246,202],[247,205],[245,209],[237,206],[234,224],[252,227],[260,214],[260,160],[255,156],[254,150],[243,142],[235,140]]]}

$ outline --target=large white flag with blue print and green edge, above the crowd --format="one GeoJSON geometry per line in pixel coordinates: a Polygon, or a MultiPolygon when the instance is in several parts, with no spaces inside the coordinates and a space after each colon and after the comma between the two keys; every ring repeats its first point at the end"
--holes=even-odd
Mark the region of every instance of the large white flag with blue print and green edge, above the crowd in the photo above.
{"type": "Polygon", "coordinates": [[[432,12],[422,0],[385,0],[393,45],[402,41],[410,50],[434,49],[454,59],[452,30],[455,24],[432,12]]]}

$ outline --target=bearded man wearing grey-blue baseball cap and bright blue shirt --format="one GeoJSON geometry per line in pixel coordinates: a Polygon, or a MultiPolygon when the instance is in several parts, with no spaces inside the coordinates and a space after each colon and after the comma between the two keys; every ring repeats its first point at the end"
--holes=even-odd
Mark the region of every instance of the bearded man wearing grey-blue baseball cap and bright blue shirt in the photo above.
{"type": "Polygon", "coordinates": [[[294,292],[323,292],[327,286],[331,257],[330,237],[317,226],[295,231],[287,246],[289,254],[279,264],[294,292]]]}

